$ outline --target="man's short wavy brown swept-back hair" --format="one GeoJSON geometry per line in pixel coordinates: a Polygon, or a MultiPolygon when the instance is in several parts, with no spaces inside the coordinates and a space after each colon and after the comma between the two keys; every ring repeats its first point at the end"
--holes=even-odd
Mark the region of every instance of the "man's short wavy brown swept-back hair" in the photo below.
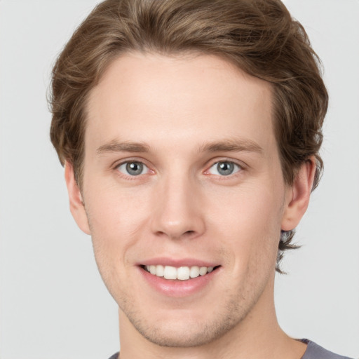
{"type": "MultiPolygon", "coordinates": [[[[215,54],[269,81],[285,182],[292,184],[299,166],[315,156],[313,188],[318,185],[327,90],[304,28],[280,0],[106,0],[76,29],[53,68],[50,137],[80,187],[88,94],[109,62],[130,50],[215,54]]],[[[283,233],[278,263],[283,250],[295,248],[293,235],[283,233]]]]}

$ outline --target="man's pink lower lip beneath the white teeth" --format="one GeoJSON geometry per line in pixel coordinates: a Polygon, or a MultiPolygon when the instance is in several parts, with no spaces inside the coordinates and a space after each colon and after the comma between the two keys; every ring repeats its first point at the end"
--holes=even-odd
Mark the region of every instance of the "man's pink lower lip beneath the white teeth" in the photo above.
{"type": "Polygon", "coordinates": [[[210,280],[216,276],[219,268],[205,274],[205,276],[198,276],[189,280],[168,280],[163,277],[154,276],[154,274],[145,271],[142,267],[140,272],[144,280],[151,285],[157,292],[165,294],[167,297],[183,298],[196,294],[203,290],[208,285],[210,280]]]}

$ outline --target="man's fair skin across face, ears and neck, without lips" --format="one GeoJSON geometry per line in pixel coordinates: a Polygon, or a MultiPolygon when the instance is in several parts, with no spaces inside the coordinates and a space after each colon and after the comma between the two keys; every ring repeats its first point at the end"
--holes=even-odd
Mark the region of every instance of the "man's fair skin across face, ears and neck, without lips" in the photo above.
{"type": "Polygon", "coordinates": [[[198,54],[121,55],[90,93],[81,191],[68,162],[65,178],[119,306],[121,359],[304,354],[280,330],[273,283],[280,230],[304,215],[315,165],[285,184],[271,97],[266,81],[198,54]],[[129,175],[131,161],[144,172],[129,175]],[[220,161],[235,164],[231,175],[216,171],[220,161]],[[203,289],[173,298],[140,275],[154,257],[219,268],[203,289]]]}

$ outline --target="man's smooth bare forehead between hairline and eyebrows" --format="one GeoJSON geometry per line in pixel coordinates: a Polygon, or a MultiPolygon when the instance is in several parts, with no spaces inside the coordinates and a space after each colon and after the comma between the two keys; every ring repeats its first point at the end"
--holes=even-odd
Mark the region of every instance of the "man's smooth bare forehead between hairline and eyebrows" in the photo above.
{"type": "Polygon", "coordinates": [[[126,53],[90,93],[86,146],[243,137],[265,147],[271,112],[271,85],[221,57],[126,53]]]}

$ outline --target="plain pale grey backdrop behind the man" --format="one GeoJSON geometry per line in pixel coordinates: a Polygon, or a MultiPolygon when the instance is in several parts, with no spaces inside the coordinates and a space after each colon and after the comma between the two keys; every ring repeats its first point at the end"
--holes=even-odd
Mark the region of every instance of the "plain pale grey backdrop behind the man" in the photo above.
{"type": "MultiPolygon", "coordinates": [[[[0,358],[107,359],[117,308],[49,141],[50,69],[97,1],[0,0],[0,358]]],[[[285,257],[283,329],[359,358],[359,1],[287,0],[325,67],[325,174],[285,257]]],[[[146,300],[144,298],[144,300],[146,300]]],[[[149,308],[149,310],[151,310],[149,308]]]]}

